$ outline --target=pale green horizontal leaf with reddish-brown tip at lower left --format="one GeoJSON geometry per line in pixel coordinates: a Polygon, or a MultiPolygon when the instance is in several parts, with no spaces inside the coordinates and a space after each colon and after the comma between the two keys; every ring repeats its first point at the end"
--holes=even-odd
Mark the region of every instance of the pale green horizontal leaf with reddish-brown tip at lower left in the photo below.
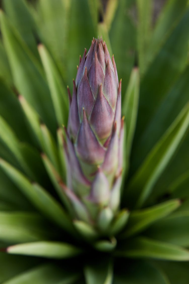
{"type": "Polygon", "coordinates": [[[69,258],[81,253],[81,249],[62,242],[40,241],[13,245],[7,248],[11,254],[24,254],[45,258],[69,258]]]}

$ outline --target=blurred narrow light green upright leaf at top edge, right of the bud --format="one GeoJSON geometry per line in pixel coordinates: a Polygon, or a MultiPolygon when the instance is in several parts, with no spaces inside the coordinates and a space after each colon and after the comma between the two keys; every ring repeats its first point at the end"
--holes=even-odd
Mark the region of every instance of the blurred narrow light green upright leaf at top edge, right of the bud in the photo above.
{"type": "MultiPolygon", "coordinates": [[[[152,0],[137,0],[138,12],[138,28],[137,28],[137,43],[139,53],[139,68],[141,76],[145,72],[146,47],[150,42],[151,26],[152,26],[152,0]]],[[[146,54],[147,53],[147,54],[146,54]]]]}

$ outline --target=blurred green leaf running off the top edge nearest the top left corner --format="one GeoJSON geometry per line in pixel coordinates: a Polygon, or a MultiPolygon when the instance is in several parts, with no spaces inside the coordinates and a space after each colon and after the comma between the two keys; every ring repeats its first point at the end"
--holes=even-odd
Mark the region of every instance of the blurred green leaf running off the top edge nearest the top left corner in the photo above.
{"type": "Polygon", "coordinates": [[[3,8],[12,24],[19,31],[22,39],[25,41],[33,55],[39,60],[37,45],[33,31],[35,23],[28,9],[27,2],[24,0],[4,0],[3,8]]]}

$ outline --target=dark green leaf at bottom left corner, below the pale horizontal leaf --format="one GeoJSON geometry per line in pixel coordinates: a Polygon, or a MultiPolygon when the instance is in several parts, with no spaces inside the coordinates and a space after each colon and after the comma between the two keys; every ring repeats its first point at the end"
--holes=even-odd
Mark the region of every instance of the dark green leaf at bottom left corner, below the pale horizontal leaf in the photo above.
{"type": "Polygon", "coordinates": [[[0,282],[5,283],[5,281],[15,275],[30,269],[34,265],[38,265],[39,262],[40,260],[28,256],[18,256],[0,252],[0,282]]]}

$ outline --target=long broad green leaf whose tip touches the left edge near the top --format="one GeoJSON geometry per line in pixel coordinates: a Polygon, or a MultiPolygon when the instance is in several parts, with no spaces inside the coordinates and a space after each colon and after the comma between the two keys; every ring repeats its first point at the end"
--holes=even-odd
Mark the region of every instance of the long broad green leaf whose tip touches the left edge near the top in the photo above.
{"type": "Polygon", "coordinates": [[[53,132],[56,129],[55,114],[41,66],[2,11],[0,21],[14,83],[53,132]]]}

